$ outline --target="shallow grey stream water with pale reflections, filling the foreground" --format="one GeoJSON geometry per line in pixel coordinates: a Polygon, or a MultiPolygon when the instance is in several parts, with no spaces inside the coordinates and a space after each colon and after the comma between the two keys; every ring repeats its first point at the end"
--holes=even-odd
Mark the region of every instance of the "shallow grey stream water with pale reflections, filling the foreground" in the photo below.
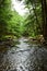
{"type": "Polygon", "coordinates": [[[47,71],[47,47],[27,40],[22,37],[20,44],[0,51],[0,71],[47,71]]]}

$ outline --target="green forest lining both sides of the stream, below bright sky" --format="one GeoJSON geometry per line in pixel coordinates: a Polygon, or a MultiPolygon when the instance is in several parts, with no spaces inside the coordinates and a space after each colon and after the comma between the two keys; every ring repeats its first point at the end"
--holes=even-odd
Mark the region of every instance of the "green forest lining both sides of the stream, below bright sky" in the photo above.
{"type": "Polygon", "coordinates": [[[15,10],[12,11],[11,0],[0,0],[0,39],[42,35],[47,40],[47,1],[24,0],[24,4],[28,13],[21,16],[15,10]]]}

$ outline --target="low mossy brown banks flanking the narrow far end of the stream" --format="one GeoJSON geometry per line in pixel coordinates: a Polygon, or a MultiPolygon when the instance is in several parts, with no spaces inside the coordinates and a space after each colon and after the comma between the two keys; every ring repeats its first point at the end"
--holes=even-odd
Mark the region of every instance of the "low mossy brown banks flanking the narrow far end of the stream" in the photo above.
{"type": "MultiPolygon", "coordinates": [[[[32,45],[46,46],[43,36],[40,36],[40,37],[20,37],[20,38],[23,38],[26,43],[32,44],[32,45]]],[[[7,47],[7,46],[13,47],[13,46],[15,46],[15,44],[19,43],[20,38],[16,38],[15,36],[8,36],[7,38],[0,40],[0,48],[7,47]]]]}

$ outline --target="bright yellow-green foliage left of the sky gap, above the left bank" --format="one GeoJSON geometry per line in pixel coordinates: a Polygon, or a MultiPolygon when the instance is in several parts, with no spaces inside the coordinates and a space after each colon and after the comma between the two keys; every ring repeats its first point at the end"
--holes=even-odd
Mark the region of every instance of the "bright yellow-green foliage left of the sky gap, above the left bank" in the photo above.
{"type": "Polygon", "coordinates": [[[16,11],[11,10],[11,0],[0,1],[0,37],[5,35],[21,36],[21,23],[23,17],[16,11]]]}

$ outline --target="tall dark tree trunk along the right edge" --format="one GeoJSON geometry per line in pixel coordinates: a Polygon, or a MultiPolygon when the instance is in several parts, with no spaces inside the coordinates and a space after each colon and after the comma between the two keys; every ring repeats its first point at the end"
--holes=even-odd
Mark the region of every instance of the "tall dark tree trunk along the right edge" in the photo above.
{"type": "Polygon", "coordinates": [[[42,10],[43,10],[43,35],[47,42],[47,2],[42,0],[42,10]]]}

